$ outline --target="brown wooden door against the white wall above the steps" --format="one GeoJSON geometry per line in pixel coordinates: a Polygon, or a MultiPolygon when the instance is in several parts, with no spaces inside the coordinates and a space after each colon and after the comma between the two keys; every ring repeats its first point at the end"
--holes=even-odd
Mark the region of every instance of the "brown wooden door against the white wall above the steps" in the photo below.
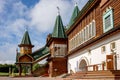
{"type": "Polygon", "coordinates": [[[107,70],[114,70],[113,55],[106,55],[107,70]]]}

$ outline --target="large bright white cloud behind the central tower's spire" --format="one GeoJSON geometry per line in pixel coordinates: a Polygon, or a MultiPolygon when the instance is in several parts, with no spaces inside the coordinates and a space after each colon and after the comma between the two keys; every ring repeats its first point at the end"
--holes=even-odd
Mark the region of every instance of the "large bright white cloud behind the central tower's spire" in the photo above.
{"type": "Polygon", "coordinates": [[[50,32],[55,23],[57,15],[57,6],[60,7],[61,16],[67,18],[71,4],[67,0],[40,0],[31,10],[31,24],[40,32],[50,32]]]}

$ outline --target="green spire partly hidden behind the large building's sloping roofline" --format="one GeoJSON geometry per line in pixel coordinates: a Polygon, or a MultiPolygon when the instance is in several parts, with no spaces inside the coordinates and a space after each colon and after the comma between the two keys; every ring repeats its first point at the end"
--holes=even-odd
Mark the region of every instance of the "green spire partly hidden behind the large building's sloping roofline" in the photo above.
{"type": "Polygon", "coordinates": [[[78,16],[78,13],[79,13],[79,8],[76,5],[75,8],[74,8],[74,10],[73,10],[73,14],[71,16],[68,28],[70,28],[70,26],[75,22],[75,18],[78,16]]]}

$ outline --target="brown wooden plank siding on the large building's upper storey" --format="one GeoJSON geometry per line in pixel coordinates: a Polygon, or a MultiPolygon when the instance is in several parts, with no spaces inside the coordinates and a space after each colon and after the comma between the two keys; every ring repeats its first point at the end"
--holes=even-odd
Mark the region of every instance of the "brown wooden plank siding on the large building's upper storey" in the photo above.
{"type": "MultiPolygon", "coordinates": [[[[68,31],[68,33],[67,33],[68,42],[76,34],[78,34],[83,28],[85,28],[86,25],[88,25],[92,20],[95,20],[96,36],[94,38],[88,40],[88,42],[103,35],[104,34],[104,32],[103,32],[103,12],[105,12],[106,8],[108,8],[109,6],[113,8],[114,27],[117,27],[118,25],[120,25],[120,0],[107,0],[107,2],[103,6],[100,6],[100,2],[97,2],[92,8],[90,8],[88,10],[88,12],[85,14],[85,16],[83,18],[81,18],[81,16],[79,17],[79,18],[81,18],[81,20],[78,19],[79,22],[76,20],[77,24],[75,23],[75,25],[73,24],[71,26],[72,29],[70,29],[70,31],[68,31]]],[[[84,45],[84,44],[86,44],[86,42],[81,45],[84,45]]],[[[68,43],[68,46],[69,46],[69,43],[68,43]]],[[[71,51],[69,50],[68,53],[71,53],[71,51]]]]}

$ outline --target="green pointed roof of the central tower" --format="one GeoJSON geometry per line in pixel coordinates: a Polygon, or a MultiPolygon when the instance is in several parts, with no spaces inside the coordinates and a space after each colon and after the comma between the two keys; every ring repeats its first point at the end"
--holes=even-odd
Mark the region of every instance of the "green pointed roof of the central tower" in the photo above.
{"type": "Polygon", "coordinates": [[[60,15],[58,15],[56,17],[56,21],[55,21],[52,37],[55,37],[55,38],[67,38],[67,36],[65,34],[63,22],[62,22],[62,19],[61,19],[60,15]]]}

